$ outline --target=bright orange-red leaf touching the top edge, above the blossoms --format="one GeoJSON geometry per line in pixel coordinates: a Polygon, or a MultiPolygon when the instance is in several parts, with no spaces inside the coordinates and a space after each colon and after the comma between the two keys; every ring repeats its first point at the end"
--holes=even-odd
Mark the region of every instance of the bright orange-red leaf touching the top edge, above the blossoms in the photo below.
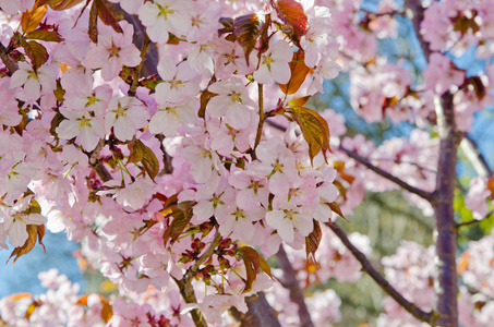
{"type": "Polygon", "coordinates": [[[305,34],[308,31],[308,16],[300,2],[294,0],[278,0],[276,2],[272,0],[270,2],[278,17],[293,31],[297,37],[305,34]]]}

